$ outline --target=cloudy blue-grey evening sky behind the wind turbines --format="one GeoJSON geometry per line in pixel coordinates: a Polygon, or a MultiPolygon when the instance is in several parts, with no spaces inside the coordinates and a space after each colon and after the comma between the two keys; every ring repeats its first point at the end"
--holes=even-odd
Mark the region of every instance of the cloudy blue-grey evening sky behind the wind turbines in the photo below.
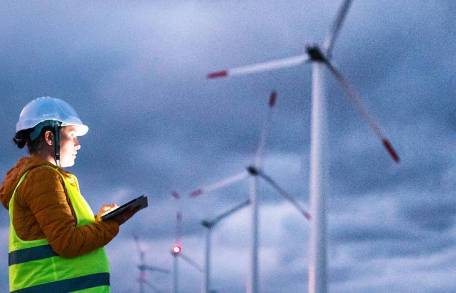
{"type": "MultiPolygon", "coordinates": [[[[341,1],[3,1],[0,173],[26,153],[12,142],[30,100],[68,101],[90,130],[68,170],[98,211],[145,194],[150,207],[106,246],[113,292],[138,291],[136,233],[150,265],[172,269],[176,212],[183,251],[204,261],[202,219],[248,197],[240,182],[185,195],[241,171],[277,92],[264,170],[308,207],[311,67],[242,77],[205,75],[305,52],[322,43],[341,1]]],[[[334,62],[377,116],[395,164],[327,74],[330,292],[456,288],[456,4],[354,1],[334,62]]],[[[260,289],[306,292],[309,225],[260,183],[260,289]]],[[[213,232],[213,289],[245,290],[249,209],[213,232]]],[[[0,213],[0,289],[7,292],[8,213],[0,213]]],[[[171,277],[147,279],[169,291],[171,277]]],[[[202,275],[181,262],[182,292],[202,275]]]]}

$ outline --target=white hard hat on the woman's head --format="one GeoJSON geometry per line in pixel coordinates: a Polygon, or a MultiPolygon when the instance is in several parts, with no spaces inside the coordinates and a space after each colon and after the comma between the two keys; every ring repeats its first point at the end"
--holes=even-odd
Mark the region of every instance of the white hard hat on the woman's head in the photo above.
{"type": "Polygon", "coordinates": [[[52,126],[55,122],[61,127],[75,125],[77,136],[82,136],[89,131],[89,127],[82,123],[70,104],[57,98],[41,97],[32,100],[22,109],[19,121],[16,123],[16,133],[38,126],[30,134],[31,140],[34,140],[44,126],[52,126]]]}

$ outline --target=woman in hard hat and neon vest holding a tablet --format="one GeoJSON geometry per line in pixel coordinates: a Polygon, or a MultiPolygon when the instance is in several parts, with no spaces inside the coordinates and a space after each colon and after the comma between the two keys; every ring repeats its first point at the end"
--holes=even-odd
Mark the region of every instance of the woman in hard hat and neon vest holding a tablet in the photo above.
{"type": "Polygon", "coordinates": [[[110,220],[117,207],[96,217],[79,192],[74,165],[78,136],[89,128],[65,101],[37,98],[21,111],[14,142],[29,157],[7,172],[0,198],[10,214],[10,292],[109,292],[109,261],[103,248],[137,210],[110,220]]]}

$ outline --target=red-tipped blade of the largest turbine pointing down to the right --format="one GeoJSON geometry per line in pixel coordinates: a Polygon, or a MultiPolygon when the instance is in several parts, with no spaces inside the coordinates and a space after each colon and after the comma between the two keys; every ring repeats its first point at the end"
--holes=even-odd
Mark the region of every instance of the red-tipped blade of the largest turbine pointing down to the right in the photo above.
{"type": "Polygon", "coordinates": [[[380,125],[376,122],[374,116],[369,112],[367,107],[364,105],[361,97],[355,91],[354,87],[350,84],[350,82],[342,75],[329,61],[326,61],[325,64],[328,66],[329,70],[334,74],[339,84],[344,88],[347,92],[353,103],[356,105],[356,108],[361,113],[362,118],[366,121],[367,125],[374,131],[377,137],[382,141],[383,146],[385,147],[386,151],[390,154],[391,158],[398,163],[400,161],[399,156],[397,155],[396,151],[392,147],[389,140],[383,134],[383,131],[380,128],[380,125]]]}

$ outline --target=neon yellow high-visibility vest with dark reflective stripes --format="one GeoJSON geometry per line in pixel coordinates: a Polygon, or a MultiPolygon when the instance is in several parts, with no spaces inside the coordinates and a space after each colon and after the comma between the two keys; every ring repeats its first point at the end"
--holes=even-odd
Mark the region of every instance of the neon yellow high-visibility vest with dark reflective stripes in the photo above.
{"type": "MultiPolygon", "coordinates": [[[[55,170],[63,178],[65,190],[76,214],[77,226],[93,223],[94,214],[79,192],[76,177],[66,177],[51,166],[43,167],[55,170]]],[[[64,258],[52,251],[46,239],[24,241],[17,236],[13,226],[14,196],[29,171],[22,175],[9,206],[10,292],[109,292],[109,261],[104,248],[79,257],[64,258]]]]}

